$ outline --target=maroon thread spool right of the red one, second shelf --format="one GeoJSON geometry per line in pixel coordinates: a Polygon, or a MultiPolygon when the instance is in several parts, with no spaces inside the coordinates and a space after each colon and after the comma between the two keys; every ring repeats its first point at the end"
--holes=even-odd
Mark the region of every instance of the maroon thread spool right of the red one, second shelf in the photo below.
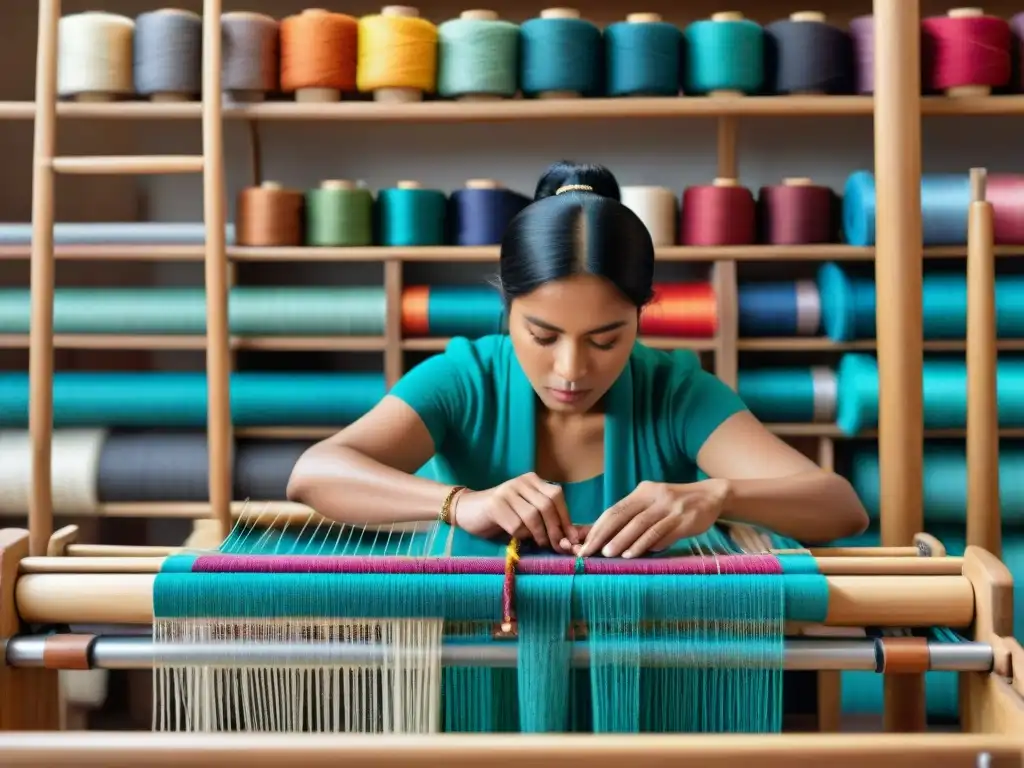
{"type": "Polygon", "coordinates": [[[758,193],[761,240],[773,246],[833,241],[833,191],[809,178],[787,178],[758,193]]]}

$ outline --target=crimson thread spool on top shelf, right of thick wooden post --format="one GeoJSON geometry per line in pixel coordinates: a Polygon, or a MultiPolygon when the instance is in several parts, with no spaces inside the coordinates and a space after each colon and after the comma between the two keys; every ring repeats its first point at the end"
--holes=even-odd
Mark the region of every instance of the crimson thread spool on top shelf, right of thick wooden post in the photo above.
{"type": "Polygon", "coordinates": [[[980,8],[954,8],[921,23],[925,89],[986,96],[1010,82],[1010,24],[980,8]]]}

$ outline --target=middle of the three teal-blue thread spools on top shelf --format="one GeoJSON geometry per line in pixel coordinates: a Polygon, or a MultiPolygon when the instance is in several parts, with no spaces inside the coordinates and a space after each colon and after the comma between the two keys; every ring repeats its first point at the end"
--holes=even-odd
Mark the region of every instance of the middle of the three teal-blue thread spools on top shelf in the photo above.
{"type": "Polygon", "coordinates": [[[683,34],[656,13],[630,13],[604,30],[609,96],[677,96],[683,34]]]}

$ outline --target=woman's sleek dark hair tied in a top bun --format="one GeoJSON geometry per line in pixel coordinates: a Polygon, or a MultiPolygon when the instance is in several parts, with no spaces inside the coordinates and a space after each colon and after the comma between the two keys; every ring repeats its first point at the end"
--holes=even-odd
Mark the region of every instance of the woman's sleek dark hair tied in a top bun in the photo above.
{"type": "Polygon", "coordinates": [[[654,245],[640,218],[620,202],[604,166],[550,166],[534,202],[509,222],[499,267],[506,302],[553,280],[597,274],[640,308],[651,298],[654,245]]]}

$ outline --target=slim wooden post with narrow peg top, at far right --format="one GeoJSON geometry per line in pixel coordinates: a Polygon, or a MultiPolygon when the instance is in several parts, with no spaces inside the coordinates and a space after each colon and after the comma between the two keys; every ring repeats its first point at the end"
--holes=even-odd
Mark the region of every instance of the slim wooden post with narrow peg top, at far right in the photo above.
{"type": "Polygon", "coordinates": [[[985,171],[971,169],[967,228],[967,543],[1001,556],[995,255],[985,171]]]}

